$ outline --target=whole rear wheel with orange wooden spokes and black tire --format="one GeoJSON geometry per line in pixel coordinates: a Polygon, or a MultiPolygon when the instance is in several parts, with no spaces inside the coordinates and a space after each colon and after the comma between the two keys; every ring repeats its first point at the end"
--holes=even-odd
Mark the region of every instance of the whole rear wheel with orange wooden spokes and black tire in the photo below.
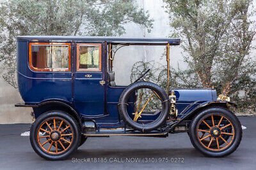
{"type": "Polygon", "coordinates": [[[63,160],[77,150],[81,132],[76,120],[63,111],[49,111],[31,126],[30,143],[35,152],[48,160],[63,160]]]}

